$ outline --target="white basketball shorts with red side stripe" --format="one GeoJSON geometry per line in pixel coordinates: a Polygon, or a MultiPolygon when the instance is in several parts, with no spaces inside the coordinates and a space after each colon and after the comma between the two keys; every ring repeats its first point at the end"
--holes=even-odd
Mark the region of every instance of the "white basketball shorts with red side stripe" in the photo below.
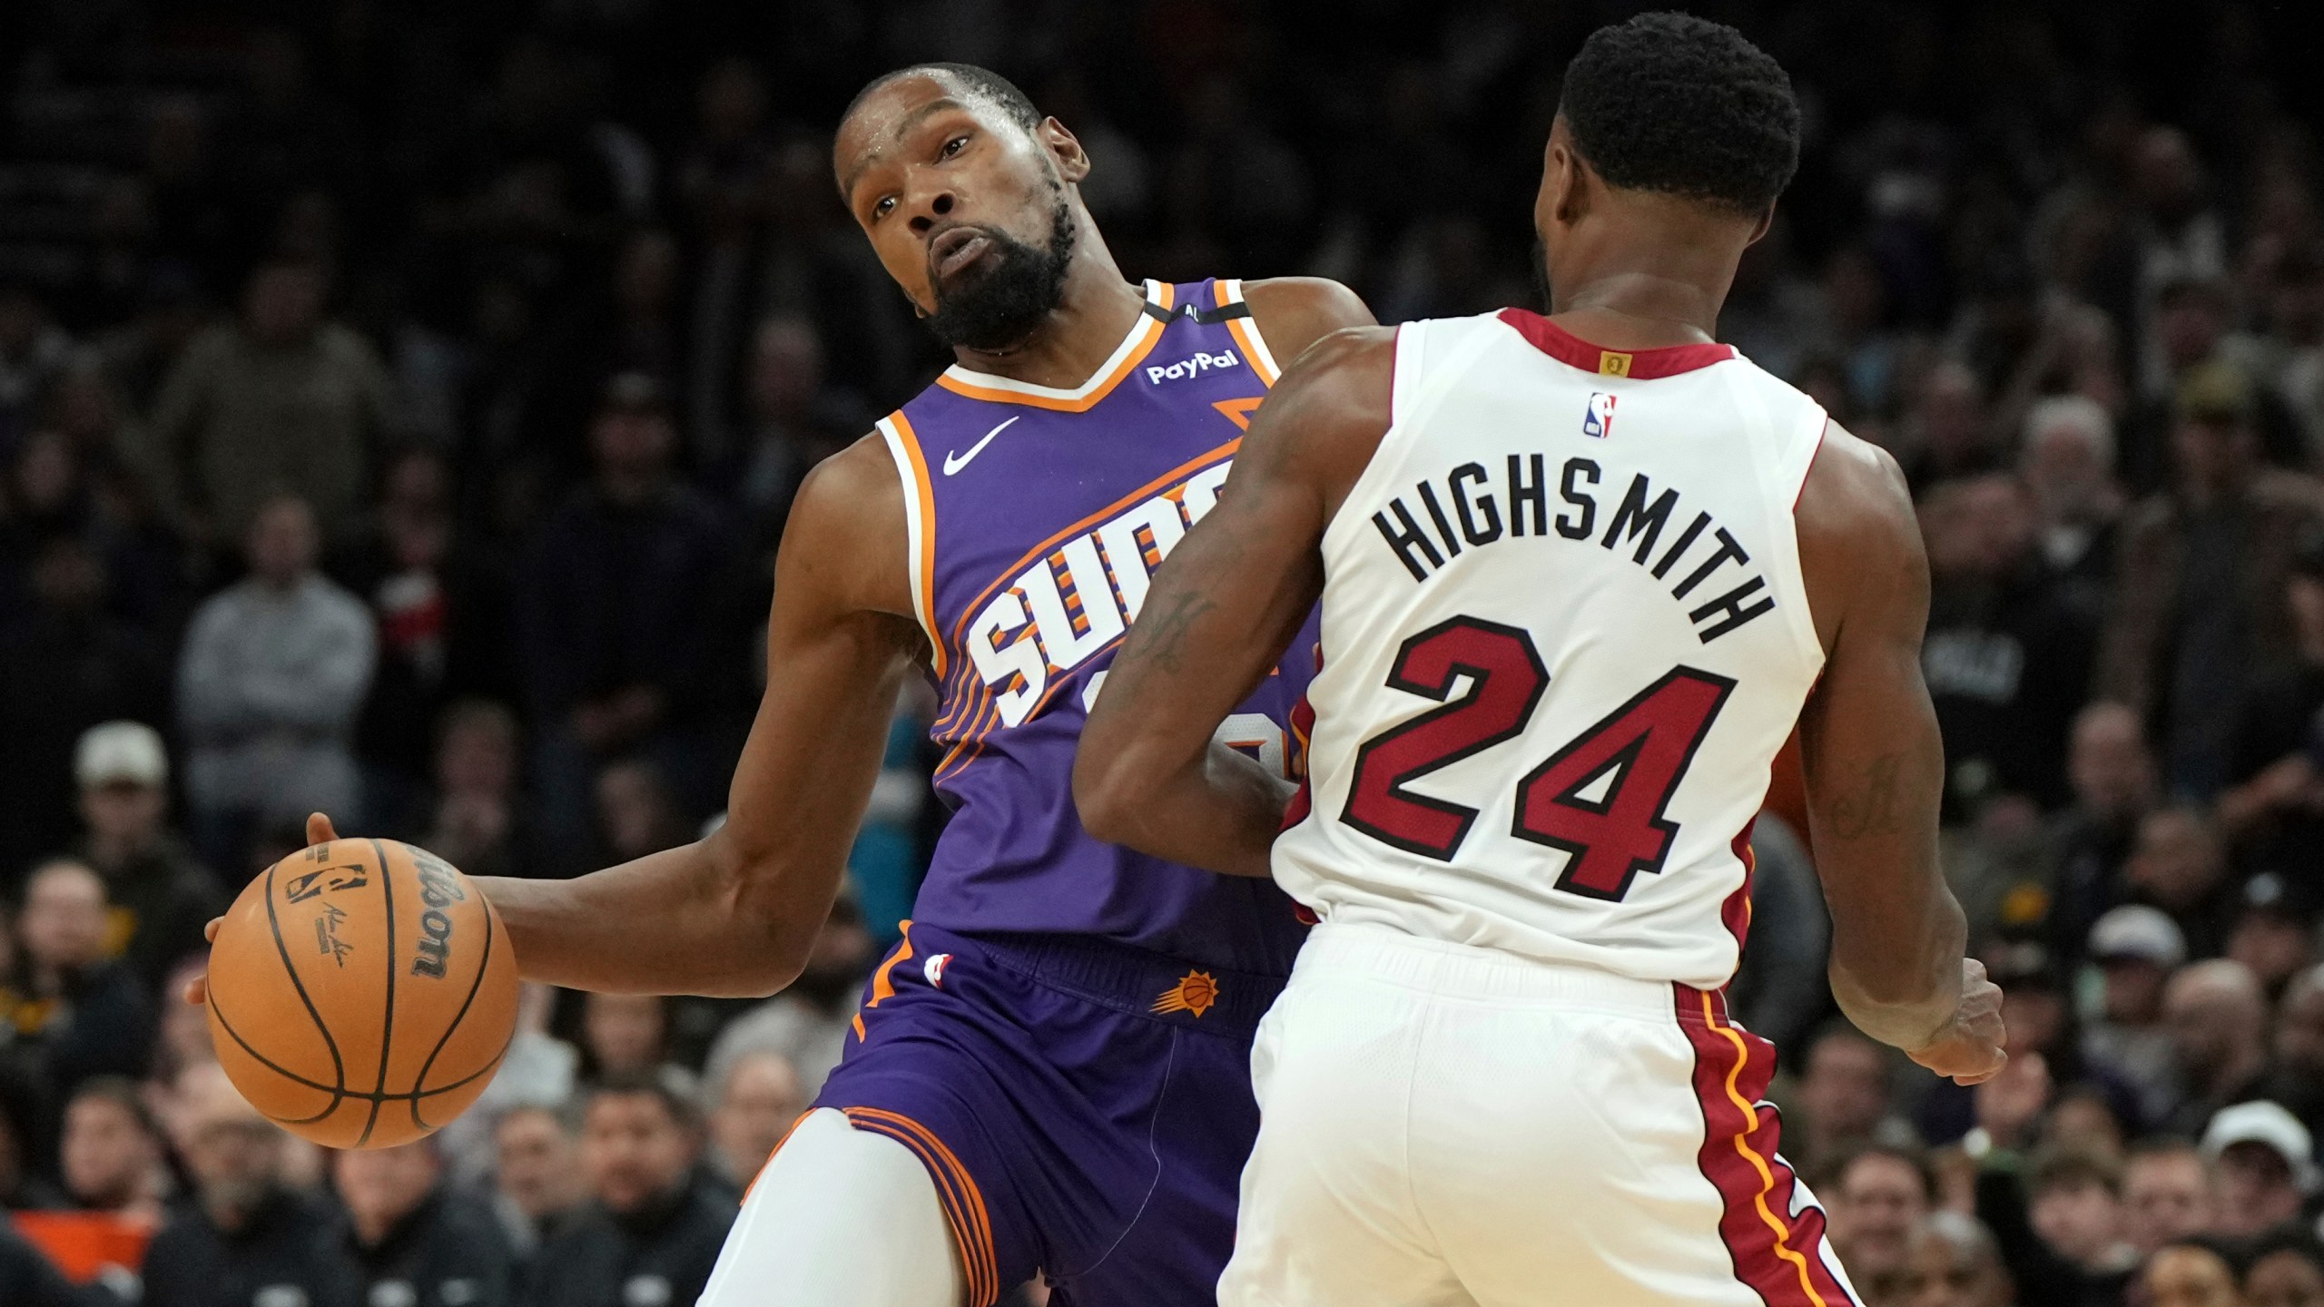
{"type": "Polygon", "coordinates": [[[1315,928],[1220,1307],[1855,1307],[1720,995],[1315,928]]]}

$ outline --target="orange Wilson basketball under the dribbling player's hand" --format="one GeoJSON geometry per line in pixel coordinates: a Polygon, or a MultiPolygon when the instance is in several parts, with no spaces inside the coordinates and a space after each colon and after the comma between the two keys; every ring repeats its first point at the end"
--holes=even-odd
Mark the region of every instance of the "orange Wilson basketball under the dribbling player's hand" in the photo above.
{"type": "Polygon", "coordinates": [[[267,1119],[388,1149],[483,1093],[516,1033],[500,914],[449,863],[332,840],[258,874],[209,947],[209,1037],[267,1119]]]}

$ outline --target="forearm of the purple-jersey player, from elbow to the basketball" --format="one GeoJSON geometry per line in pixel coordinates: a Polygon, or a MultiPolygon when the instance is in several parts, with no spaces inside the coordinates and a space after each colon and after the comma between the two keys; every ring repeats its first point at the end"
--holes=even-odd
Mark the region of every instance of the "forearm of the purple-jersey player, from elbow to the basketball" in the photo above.
{"type": "Polygon", "coordinates": [[[767,912],[718,835],[567,881],[476,877],[525,979],[602,993],[762,998],[799,974],[820,912],[767,912]]]}

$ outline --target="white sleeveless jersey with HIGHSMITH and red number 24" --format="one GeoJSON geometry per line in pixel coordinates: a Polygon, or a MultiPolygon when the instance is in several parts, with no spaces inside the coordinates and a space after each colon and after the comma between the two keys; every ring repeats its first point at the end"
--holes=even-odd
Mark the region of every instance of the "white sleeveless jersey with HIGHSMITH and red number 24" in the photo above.
{"type": "Polygon", "coordinates": [[[1322,535],[1276,881],[1332,923],[1727,984],[1824,663],[1792,528],[1824,412],[1731,347],[1522,309],[1399,328],[1390,407],[1322,535]]]}

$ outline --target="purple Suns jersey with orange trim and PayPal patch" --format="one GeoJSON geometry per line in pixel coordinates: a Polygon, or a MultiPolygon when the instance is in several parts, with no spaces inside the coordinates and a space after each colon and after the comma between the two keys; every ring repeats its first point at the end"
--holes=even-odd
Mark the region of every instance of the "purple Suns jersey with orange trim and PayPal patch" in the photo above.
{"type": "MultiPolygon", "coordinates": [[[[1148,281],[1146,314],[1083,386],[951,367],[881,419],[934,647],[934,784],[953,807],[913,921],[1290,970],[1304,928],[1271,881],[1102,844],[1074,812],[1074,747],[1106,665],[1162,556],[1218,502],[1274,379],[1239,281],[1148,281]]],[[[1313,647],[1311,621],[1222,728],[1283,774],[1313,647]]]]}

